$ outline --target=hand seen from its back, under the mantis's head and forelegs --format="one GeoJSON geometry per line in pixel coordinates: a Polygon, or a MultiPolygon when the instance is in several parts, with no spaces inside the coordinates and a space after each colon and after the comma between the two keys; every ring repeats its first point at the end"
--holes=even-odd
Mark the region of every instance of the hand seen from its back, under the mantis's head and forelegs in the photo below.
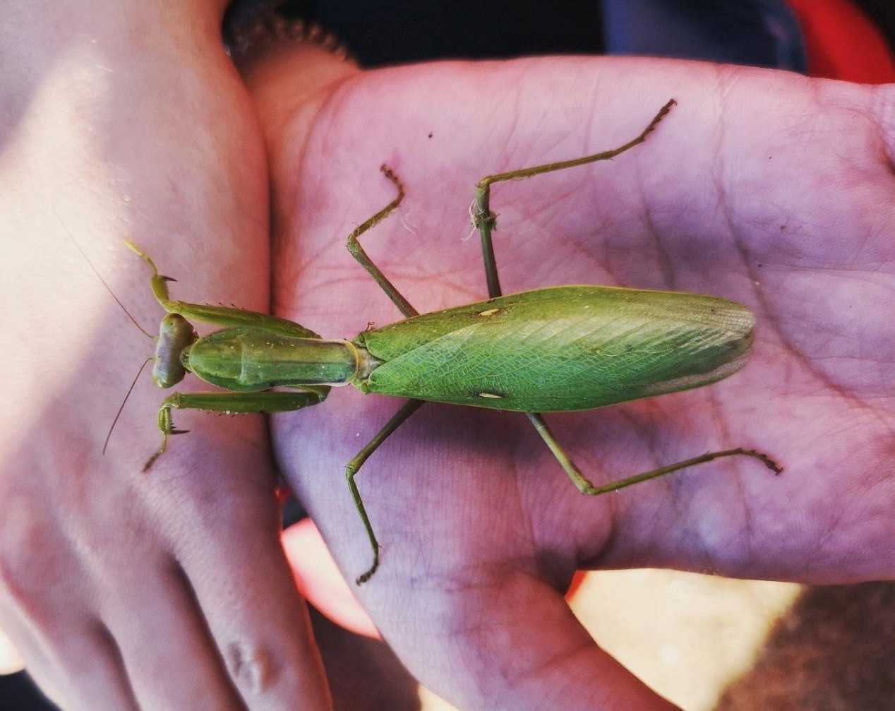
{"type": "Polygon", "coordinates": [[[164,397],[144,374],[103,458],[153,346],[65,234],[149,330],[124,236],[177,297],[267,310],[267,167],[222,10],[18,4],[0,29],[0,627],[64,709],[329,707],[261,418],[181,413],[143,475],[164,397]]]}

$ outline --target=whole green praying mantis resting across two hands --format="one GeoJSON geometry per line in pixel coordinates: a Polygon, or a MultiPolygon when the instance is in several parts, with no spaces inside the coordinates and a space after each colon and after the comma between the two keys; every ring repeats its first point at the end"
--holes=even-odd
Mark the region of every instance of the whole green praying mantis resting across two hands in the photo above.
{"type": "Polygon", "coordinates": [[[541,413],[587,410],[701,387],[746,364],[754,316],[725,299],[680,292],[594,286],[546,287],[503,295],[491,244],[496,216],[490,186],[614,158],[643,143],[675,105],[671,99],[634,140],[584,158],[487,176],[476,185],[473,226],[482,238],[488,284],[486,301],[419,313],[364,253],[358,238],[395,210],[404,187],[388,167],[382,172],[397,196],[348,236],[348,251],[404,314],[353,340],[325,339],[294,321],[225,306],[188,304],[168,295],[146,253],[128,242],[152,270],[152,291],[167,315],[154,356],[153,380],[170,388],[191,372],[223,390],[169,395],[158,410],[162,443],[146,462],[162,455],[175,429],[174,409],[225,413],[278,413],[318,405],[332,386],[352,384],[364,393],[409,398],[345,468],[354,504],[370,539],[373,561],[356,578],[369,580],[379,567],[379,542],[354,482],[363,463],[424,401],[524,412],[578,490],[616,491],[713,459],[756,458],[781,468],[755,450],[714,451],[666,467],[595,486],[560,446],[541,413]],[[220,327],[206,336],[192,321],[220,327]],[[271,390],[280,388],[284,390],[271,390]]]}

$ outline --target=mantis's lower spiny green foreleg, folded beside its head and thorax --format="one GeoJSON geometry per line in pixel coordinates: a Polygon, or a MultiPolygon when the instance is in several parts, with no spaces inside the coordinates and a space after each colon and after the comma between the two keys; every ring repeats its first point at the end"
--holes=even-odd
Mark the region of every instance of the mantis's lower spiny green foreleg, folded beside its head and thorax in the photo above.
{"type": "Polygon", "coordinates": [[[155,464],[167,449],[169,434],[183,434],[189,430],[178,430],[171,418],[171,410],[206,410],[208,412],[223,412],[234,415],[291,412],[302,407],[317,405],[326,399],[329,394],[328,387],[308,387],[305,392],[175,392],[162,401],[158,408],[158,429],[162,433],[161,446],[146,460],[143,471],[149,471],[149,467],[155,464]]]}

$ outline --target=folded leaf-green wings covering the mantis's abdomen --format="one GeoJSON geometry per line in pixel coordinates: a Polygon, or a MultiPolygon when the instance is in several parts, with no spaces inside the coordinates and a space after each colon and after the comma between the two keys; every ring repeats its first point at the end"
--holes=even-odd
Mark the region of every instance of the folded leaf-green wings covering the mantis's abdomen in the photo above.
{"type": "Polygon", "coordinates": [[[713,296],[550,287],[425,313],[357,338],[382,361],[362,390],[521,412],[604,407],[719,381],[754,316],[713,296]]]}

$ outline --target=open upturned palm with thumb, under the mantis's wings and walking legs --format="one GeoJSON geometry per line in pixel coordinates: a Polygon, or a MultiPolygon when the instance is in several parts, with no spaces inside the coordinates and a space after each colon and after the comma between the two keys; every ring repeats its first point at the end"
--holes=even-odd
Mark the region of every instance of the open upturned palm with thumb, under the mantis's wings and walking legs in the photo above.
{"type": "MultiPolygon", "coordinates": [[[[744,446],[589,499],[523,415],[428,405],[358,483],[383,545],[357,590],[424,684],[464,709],[666,709],[568,611],[576,569],[659,566],[844,583],[895,574],[895,89],[662,60],[541,58],[354,73],[279,48],[244,73],[271,161],[274,307],[351,338],[396,308],[486,296],[466,210],[482,176],[615,147],[611,163],[499,184],[504,291],[702,292],[757,318],[746,370],[710,388],[549,415],[597,483],[744,446]]],[[[399,401],[334,391],[273,419],[277,461],[353,579],[371,552],[340,476],[399,401]]],[[[611,614],[611,611],[607,611],[611,614]]]]}

